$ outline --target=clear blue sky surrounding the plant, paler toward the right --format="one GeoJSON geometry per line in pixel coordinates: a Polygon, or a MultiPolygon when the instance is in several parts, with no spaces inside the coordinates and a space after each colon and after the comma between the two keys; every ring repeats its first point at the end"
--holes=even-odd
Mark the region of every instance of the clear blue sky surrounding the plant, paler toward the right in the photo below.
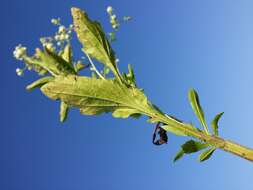
{"type": "MultiPolygon", "coordinates": [[[[221,136],[253,147],[253,1],[3,0],[0,11],[1,157],[3,190],[253,189],[252,163],[220,150],[205,163],[197,154],[174,164],[186,138],[151,144],[146,118],[81,116],[58,119],[58,102],[25,86],[12,57],[22,43],[54,33],[53,17],[70,24],[70,7],[86,10],[109,30],[106,6],[134,20],[114,45],[121,70],[131,63],[140,87],[163,111],[197,124],[187,91],[199,92],[207,120],[221,111],[221,136]]],[[[79,47],[79,45],[78,45],[79,47]]],[[[78,51],[76,57],[81,56],[78,51]]]]}

